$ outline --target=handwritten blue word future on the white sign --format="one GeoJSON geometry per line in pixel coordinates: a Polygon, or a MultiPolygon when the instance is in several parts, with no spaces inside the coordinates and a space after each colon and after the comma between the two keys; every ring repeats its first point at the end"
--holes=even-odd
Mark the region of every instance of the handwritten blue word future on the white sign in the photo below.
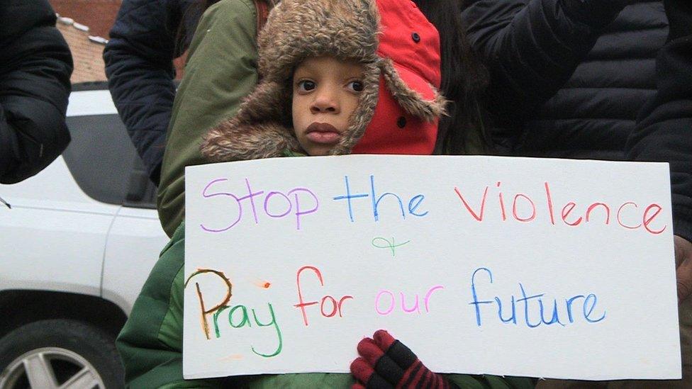
{"type": "MultiPolygon", "coordinates": [[[[474,274],[471,276],[471,296],[473,298],[473,301],[471,301],[469,305],[474,306],[474,310],[476,311],[476,325],[478,325],[479,327],[481,327],[482,322],[481,305],[497,305],[498,319],[506,324],[512,323],[514,325],[517,325],[517,304],[523,305],[523,324],[527,325],[529,328],[535,328],[542,324],[552,325],[557,323],[558,325],[562,325],[563,327],[566,325],[564,314],[562,317],[560,316],[560,310],[558,309],[557,299],[553,299],[552,314],[549,314],[549,319],[546,319],[546,309],[544,307],[542,299],[545,293],[530,295],[530,293],[526,292],[526,289],[524,288],[522,283],[519,283],[521,298],[515,300],[515,296],[512,295],[510,298],[511,313],[507,314],[507,312],[505,312],[505,315],[503,315],[502,300],[499,297],[495,296],[494,300],[479,300],[478,293],[476,292],[476,274],[479,273],[487,274],[489,276],[490,283],[493,283],[493,273],[490,271],[490,269],[485,267],[480,267],[476,269],[476,271],[474,271],[474,274]],[[534,303],[532,304],[531,302],[534,303]]],[[[584,317],[584,320],[586,320],[586,322],[597,323],[605,319],[605,310],[603,310],[603,314],[601,315],[601,317],[593,317],[593,311],[596,310],[596,303],[598,302],[598,298],[595,294],[591,293],[586,295],[586,297],[584,295],[574,295],[570,298],[564,299],[564,311],[567,312],[567,320],[569,320],[569,323],[567,324],[574,323],[573,310],[574,305],[579,306],[579,303],[577,302],[581,302],[581,315],[582,317],[584,317]]],[[[560,306],[562,307],[562,303],[560,304],[560,306]]]]}

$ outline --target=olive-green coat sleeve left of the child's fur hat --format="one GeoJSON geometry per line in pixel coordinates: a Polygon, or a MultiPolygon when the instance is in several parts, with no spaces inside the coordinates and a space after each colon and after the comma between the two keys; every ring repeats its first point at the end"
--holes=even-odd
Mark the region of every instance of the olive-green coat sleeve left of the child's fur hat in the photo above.
{"type": "Polygon", "coordinates": [[[257,9],[252,0],[221,0],[199,22],[168,126],[157,209],[172,236],[185,210],[185,167],[208,163],[202,135],[235,115],[257,85],[257,9]],[[180,108],[184,109],[180,109],[180,108]]]}

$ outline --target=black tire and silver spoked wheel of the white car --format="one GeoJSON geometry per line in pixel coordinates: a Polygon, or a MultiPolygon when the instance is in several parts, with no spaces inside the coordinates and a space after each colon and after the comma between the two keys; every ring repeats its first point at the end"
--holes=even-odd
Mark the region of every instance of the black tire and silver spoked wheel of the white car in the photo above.
{"type": "Polygon", "coordinates": [[[60,387],[69,382],[123,388],[124,369],[114,341],[110,334],[77,320],[40,320],[18,327],[0,339],[0,388],[60,387]]]}

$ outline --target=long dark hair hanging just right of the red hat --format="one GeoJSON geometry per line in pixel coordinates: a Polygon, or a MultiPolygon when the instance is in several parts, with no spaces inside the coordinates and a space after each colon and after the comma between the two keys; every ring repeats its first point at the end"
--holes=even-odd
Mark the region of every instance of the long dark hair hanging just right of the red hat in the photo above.
{"type": "Polygon", "coordinates": [[[436,151],[445,154],[491,152],[488,115],[484,108],[489,76],[466,36],[462,21],[464,0],[413,1],[440,33],[440,89],[450,103],[448,115],[440,119],[436,151]],[[477,144],[471,145],[469,140],[477,144]]]}

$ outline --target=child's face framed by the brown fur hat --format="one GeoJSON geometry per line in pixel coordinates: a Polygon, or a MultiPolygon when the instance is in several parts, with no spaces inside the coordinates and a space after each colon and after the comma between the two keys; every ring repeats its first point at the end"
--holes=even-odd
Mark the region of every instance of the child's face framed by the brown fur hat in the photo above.
{"type": "Polygon", "coordinates": [[[364,67],[334,57],[312,57],[293,74],[293,125],[309,155],[325,155],[348,128],[363,90],[364,67]]]}

